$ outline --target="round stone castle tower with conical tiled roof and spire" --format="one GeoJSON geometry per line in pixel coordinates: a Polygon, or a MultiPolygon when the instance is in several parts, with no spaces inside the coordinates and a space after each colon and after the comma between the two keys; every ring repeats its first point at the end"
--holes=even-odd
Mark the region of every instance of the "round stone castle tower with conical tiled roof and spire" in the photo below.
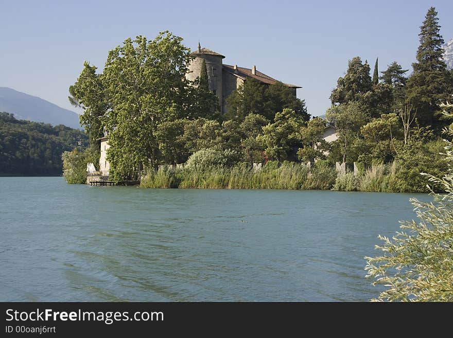
{"type": "Polygon", "coordinates": [[[191,52],[195,59],[189,64],[189,72],[186,77],[194,81],[201,73],[201,63],[204,59],[206,62],[207,77],[209,89],[219,98],[220,109],[223,106],[223,88],[222,88],[222,59],[225,57],[207,48],[201,48],[198,43],[198,49],[191,52]]]}

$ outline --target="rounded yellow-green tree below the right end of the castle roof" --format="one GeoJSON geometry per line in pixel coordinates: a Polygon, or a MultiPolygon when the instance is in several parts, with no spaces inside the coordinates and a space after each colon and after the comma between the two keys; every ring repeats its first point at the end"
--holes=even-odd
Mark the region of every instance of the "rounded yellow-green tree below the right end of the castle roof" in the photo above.
{"type": "Polygon", "coordinates": [[[266,156],[278,161],[294,160],[300,147],[299,131],[305,120],[291,109],[275,114],[274,122],[263,127],[263,135],[257,137],[266,156]]]}

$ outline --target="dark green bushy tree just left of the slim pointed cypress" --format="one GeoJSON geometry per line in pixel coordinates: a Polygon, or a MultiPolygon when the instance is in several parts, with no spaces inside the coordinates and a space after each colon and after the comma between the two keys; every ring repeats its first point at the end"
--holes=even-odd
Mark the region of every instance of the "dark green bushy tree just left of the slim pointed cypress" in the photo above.
{"type": "Polygon", "coordinates": [[[347,103],[361,99],[361,96],[372,89],[370,66],[359,57],[349,61],[346,75],[337,81],[337,87],[330,94],[332,104],[347,103]]]}

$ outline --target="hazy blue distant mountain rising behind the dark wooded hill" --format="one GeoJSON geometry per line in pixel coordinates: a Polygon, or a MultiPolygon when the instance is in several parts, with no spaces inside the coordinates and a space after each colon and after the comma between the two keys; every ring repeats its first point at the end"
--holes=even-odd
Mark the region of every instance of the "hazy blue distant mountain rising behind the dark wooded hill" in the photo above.
{"type": "Polygon", "coordinates": [[[0,87],[0,112],[13,113],[17,119],[80,128],[77,113],[8,87],[0,87]]]}

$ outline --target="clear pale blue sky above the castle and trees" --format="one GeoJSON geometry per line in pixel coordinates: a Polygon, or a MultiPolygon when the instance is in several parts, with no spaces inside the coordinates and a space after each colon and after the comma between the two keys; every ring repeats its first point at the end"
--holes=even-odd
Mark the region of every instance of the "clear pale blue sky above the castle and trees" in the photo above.
{"type": "Polygon", "coordinates": [[[186,46],[215,50],[226,64],[298,84],[312,115],[322,115],[338,77],[355,56],[379,70],[411,69],[426,11],[439,12],[453,38],[453,1],[13,1],[0,0],[0,86],[63,108],[83,61],[102,70],[107,52],[138,34],[170,30],[186,46]]]}

